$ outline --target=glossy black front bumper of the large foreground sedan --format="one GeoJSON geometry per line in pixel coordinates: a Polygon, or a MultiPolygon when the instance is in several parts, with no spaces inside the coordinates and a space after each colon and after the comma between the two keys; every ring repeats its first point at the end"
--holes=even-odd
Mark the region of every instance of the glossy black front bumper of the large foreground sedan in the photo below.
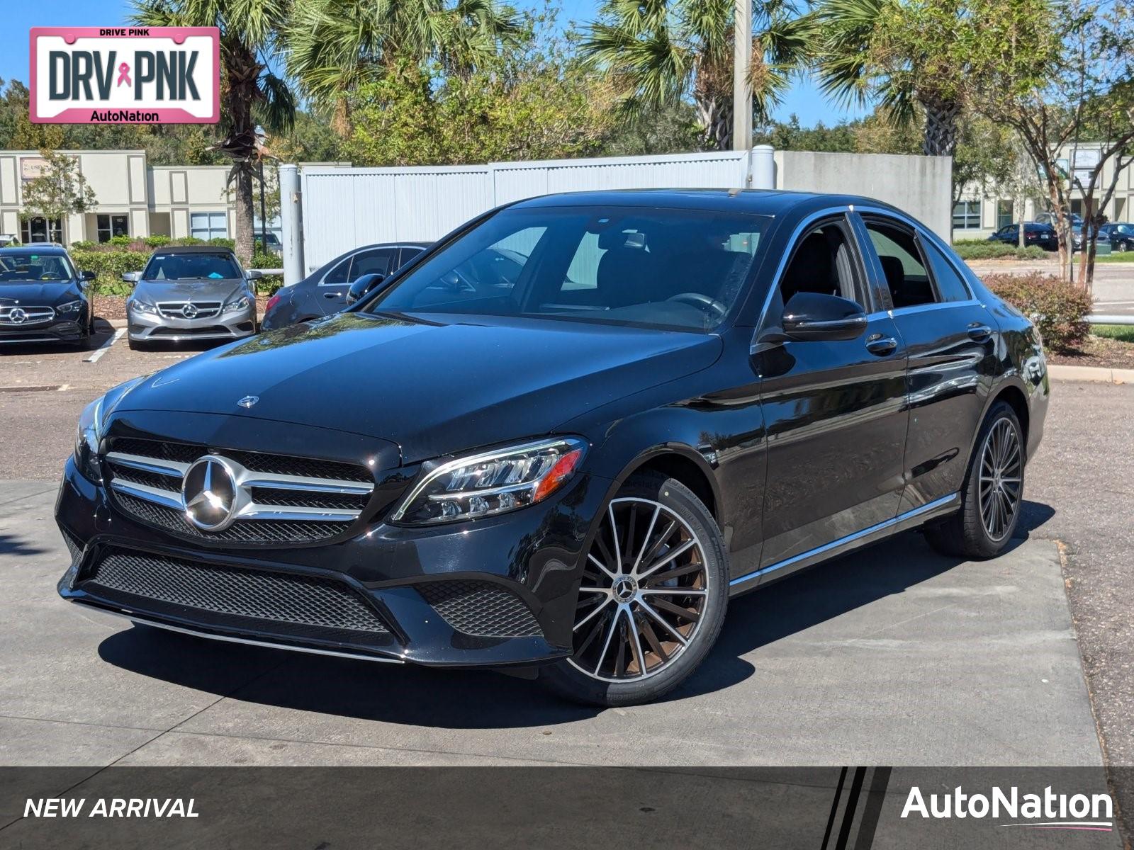
{"type": "Polygon", "coordinates": [[[409,529],[375,518],[327,545],[219,549],[124,513],[68,460],[56,518],[73,559],[58,590],[222,640],[438,666],[539,664],[570,654],[589,529],[609,484],[581,475],[545,503],[472,524],[409,529]],[[150,564],[141,578],[138,562],[150,564]],[[518,634],[481,634],[486,621],[518,634]]]}

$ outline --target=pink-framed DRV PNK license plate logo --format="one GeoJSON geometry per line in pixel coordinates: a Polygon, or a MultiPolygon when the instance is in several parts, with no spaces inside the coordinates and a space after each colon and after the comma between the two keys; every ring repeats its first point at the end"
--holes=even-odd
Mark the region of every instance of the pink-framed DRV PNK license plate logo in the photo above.
{"type": "Polygon", "coordinates": [[[217,27],[33,27],[31,54],[37,124],[220,119],[217,27]]]}

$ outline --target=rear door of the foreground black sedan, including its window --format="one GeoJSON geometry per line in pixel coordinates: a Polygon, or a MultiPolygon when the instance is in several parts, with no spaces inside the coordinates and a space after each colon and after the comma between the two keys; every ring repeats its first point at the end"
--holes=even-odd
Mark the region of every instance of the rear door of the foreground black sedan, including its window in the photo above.
{"type": "Polygon", "coordinates": [[[930,233],[883,212],[855,218],[875,296],[908,349],[902,513],[960,490],[996,375],[997,324],[930,233]]]}

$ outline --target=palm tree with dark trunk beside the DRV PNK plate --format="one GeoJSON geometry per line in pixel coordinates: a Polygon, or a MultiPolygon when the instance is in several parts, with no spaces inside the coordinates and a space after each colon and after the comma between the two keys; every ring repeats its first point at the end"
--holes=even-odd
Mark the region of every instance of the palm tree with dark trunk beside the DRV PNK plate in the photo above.
{"type": "Polygon", "coordinates": [[[286,131],[295,120],[287,83],[271,73],[271,56],[291,11],[290,0],[134,0],[134,23],[142,26],[215,26],[220,28],[219,148],[232,160],[236,184],[236,253],[253,253],[252,187],[264,155],[256,125],[286,131]]]}

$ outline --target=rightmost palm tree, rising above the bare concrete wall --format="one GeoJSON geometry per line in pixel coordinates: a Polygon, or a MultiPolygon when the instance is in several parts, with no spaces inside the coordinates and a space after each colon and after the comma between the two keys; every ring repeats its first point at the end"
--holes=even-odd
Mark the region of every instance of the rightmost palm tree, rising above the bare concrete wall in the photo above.
{"type": "Polygon", "coordinates": [[[844,104],[877,101],[895,124],[923,117],[922,150],[951,156],[972,22],[958,0],[822,0],[818,75],[822,91],[844,104]]]}

